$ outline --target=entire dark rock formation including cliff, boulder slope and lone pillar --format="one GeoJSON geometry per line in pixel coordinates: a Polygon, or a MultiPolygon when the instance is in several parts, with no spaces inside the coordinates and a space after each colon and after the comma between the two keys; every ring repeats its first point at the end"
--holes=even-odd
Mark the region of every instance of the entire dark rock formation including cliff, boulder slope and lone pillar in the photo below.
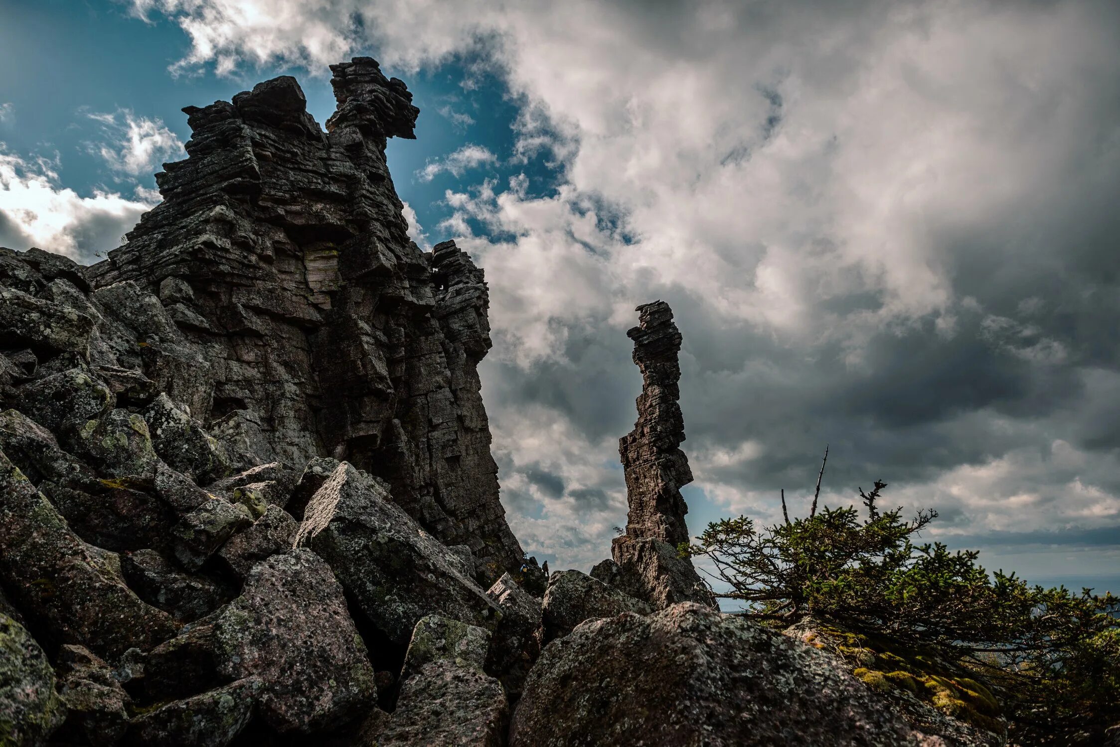
{"type": "Polygon", "coordinates": [[[103,263],[0,248],[0,745],[987,745],[712,608],[664,303],[629,332],[626,535],[544,588],[498,502],[483,273],[409,240],[385,166],[418,110],[333,70],[326,132],[290,77],[185,110],[103,263]]]}

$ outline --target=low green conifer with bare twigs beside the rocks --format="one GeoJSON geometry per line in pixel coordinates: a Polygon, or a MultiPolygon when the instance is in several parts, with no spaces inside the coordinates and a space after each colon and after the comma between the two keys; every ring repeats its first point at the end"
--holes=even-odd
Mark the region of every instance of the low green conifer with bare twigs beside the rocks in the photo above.
{"type": "Polygon", "coordinates": [[[783,494],[784,522],[724,519],[681,552],[707,558],[700,569],[727,587],[716,595],[759,622],[812,618],[967,666],[1024,744],[1079,744],[1120,722],[1120,598],[1032,586],[990,574],[976,551],[918,543],[937,513],[880,510],[881,481],[860,489],[862,512],[818,511],[820,476],[808,518],[791,520],[783,494]]]}

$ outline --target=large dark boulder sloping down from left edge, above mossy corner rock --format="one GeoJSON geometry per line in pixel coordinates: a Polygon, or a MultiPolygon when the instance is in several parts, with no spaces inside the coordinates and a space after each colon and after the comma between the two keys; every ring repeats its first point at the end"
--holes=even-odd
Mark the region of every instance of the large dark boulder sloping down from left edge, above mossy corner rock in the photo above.
{"type": "Polygon", "coordinates": [[[78,539],[2,453],[0,577],[20,609],[60,642],[114,656],[175,634],[170,616],[124,584],[116,555],[78,539]]]}

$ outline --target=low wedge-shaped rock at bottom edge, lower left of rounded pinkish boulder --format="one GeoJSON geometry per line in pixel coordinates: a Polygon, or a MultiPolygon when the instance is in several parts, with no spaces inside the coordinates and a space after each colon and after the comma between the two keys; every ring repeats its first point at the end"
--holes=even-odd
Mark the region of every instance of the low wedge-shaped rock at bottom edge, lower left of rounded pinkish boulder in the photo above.
{"type": "Polygon", "coordinates": [[[137,717],[128,745],[224,747],[245,728],[261,691],[249,678],[184,700],[175,700],[137,717]]]}

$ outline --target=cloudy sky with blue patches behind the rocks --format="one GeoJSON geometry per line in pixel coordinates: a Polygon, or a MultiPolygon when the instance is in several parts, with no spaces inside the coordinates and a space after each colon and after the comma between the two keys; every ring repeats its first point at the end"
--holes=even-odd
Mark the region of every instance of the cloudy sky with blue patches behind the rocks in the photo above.
{"type": "Polygon", "coordinates": [[[625,523],[637,303],[684,333],[690,527],[881,477],[928,532],[1120,590],[1120,6],[0,0],[0,245],[85,262],[179,107],[405,79],[421,245],[486,268],[503,501],[557,567],[625,523]]]}

